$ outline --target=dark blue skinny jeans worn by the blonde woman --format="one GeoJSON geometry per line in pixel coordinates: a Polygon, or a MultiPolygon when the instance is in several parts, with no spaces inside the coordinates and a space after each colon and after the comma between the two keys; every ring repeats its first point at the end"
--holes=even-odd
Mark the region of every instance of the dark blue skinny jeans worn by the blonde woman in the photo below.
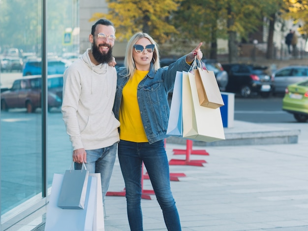
{"type": "Polygon", "coordinates": [[[141,170],[144,163],[168,231],[181,231],[178,209],[170,189],[167,154],[163,140],[135,143],[120,140],[119,162],[125,182],[128,222],[131,231],[142,231],[141,170]]]}

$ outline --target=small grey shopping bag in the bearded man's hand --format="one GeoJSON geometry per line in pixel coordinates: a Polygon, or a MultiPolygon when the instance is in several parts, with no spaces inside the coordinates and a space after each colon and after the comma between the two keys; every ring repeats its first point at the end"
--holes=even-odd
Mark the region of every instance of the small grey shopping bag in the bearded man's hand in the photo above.
{"type": "Polygon", "coordinates": [[[84,209],[89,171],[85,163],[81,170],[66,170],[58,199],[58,206],[63,209],[84,209]]]}

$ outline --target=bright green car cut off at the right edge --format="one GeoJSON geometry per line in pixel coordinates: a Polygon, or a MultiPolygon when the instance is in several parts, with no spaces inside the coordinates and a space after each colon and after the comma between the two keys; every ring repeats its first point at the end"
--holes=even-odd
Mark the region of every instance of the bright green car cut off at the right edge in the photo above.
{"type": "Polygon", "coordinates": [[[298,122],[308,120],[308,80],[287,86],[282,99],[282,110],[292,113],[298,122]]]}

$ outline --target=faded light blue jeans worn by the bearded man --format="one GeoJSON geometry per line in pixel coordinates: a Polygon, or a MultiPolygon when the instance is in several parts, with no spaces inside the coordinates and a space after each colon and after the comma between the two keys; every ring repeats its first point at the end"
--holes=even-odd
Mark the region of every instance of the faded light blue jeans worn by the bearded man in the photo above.
{"type": "MultiPolygon", "coordinates": [[[[103,202],[105,202],[113,166],[116,161],[117,144],[118,143],[114,143],[105,148],[86,150],[87,170],[89,170],[89,173],[100,173],[103,202]]],[[[81,169],[81,167],[82,164],[75,163],[75,169],[81,169]]]]}

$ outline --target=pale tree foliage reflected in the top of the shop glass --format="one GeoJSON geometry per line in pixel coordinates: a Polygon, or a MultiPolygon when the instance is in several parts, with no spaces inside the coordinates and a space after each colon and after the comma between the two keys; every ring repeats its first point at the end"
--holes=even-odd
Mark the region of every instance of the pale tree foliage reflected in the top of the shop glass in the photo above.
{"type": "MultiPolygon", "coordinates": [[[[72,5],[77,0],[47,1],[48,51],[62,51],[65,28],[77,26],[72,5]]],[[[42,12],[40,0],[0,0],[0,42],[2,52],[18,48],[38,52],[41,47],[42,12]]],[[[76,10],[77,12],[77,10],[76,10]]]]}

